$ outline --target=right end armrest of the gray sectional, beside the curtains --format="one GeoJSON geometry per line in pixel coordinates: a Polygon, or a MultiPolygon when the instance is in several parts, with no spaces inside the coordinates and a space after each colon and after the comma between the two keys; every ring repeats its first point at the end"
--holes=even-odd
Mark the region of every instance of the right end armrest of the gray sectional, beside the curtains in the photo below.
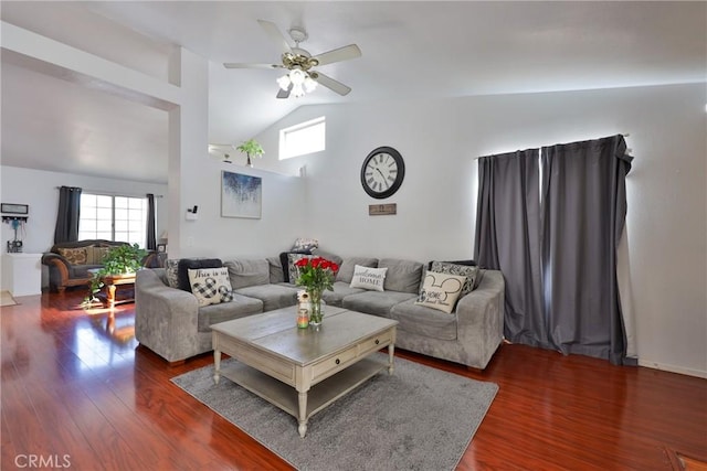
{"type": "Polygon", "coordinates": [[[505,281],[498,270],[486,270],[481,285],[456,304],[457,336],[478,357],[483,370],[504,336],[505,281]]]}

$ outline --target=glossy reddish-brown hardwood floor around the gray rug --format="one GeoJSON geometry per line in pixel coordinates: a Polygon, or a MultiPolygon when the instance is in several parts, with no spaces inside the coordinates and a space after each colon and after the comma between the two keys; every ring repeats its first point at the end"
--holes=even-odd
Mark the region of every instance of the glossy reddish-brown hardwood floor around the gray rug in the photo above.
{"type": "MultiPolygon", "coordinates": [[[[170,367],[137,345],[133,304],[110,318],[78,308],[82,296],[0,308],[2,470],[32,468],[31,459],[45,469],[289,469],[169,382],[211,355],[170,367]]],[[[499,385],[458,469],[674,470],[707,461],[707,379],[523,345],[502,346],[484,372],[398,355],[499,385]]]]}

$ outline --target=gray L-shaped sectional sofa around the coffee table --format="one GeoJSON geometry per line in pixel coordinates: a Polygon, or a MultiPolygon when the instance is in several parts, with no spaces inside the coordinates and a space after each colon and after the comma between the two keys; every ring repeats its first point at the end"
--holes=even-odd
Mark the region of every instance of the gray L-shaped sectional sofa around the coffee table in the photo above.
{"type": "MultiPolygon", "coordinates": [[[[463,296],[450,314],[415,304],[425,274],[425,266],[419,261],[328,258],[335,258],[340,270],[334,290],[325,291],[324,301],[399,321],[397,347],[483,370],[503,341],[505,285],[500,271],[485,270],[478,286],[463,296]],[[351,288],[356,265],[387,267],[383,291],[351,288]]],[[[296,293],[302,288],[288,282],[287,268],[283,270],[281,258],[234,259],[223,266],[229,268],[234,298],[204,307],[199,307],[191,292],[170,287],[163,268],[138,271],[137,341],[168,362],[177,363],[212,350],[213,323],[296,304],[296,293]]]]}

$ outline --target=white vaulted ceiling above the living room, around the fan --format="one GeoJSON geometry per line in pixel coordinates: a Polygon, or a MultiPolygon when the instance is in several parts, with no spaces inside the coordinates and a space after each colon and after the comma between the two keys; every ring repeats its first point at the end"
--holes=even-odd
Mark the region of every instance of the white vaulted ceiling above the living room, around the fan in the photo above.
{"type": "MultiPolygon", "coordinates": [[[[706,2],[2,1],[3,22],[166,79],[181,45],[210,61],[209,140],[238,143],[302,105],[707,82],[706,2]],[[306,29],[349,85],[276,99],[278,63],[256,22],[306,29]]],[[[2,51],[2,164],[167,181],[167,116],[28,67],[2,51]],[[114,162],[120,162],[116,170],[114,162]],[[117,173],[116,173],[117,172],[117,173]]],[[[205,152],[205,150],[204,150],[205,152]]]]}

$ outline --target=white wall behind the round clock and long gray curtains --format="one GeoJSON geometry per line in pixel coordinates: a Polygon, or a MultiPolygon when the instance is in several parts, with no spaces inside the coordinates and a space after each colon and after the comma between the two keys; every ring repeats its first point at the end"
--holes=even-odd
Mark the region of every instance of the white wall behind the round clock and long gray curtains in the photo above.
{"type": "Polygon", "coordinates": [[[302,107],[258,139],[264,168],[306,167],[309,236],[341,255],[467,258],[475,157],[630,133],[629,272],[641,364],[707,377],[705,84],[302,107]],[[327,150],[276,161],[278,129],[327,117],[327,150]],[[395,216],[368,216],[360,165],[404,160],[395,216]]]}

